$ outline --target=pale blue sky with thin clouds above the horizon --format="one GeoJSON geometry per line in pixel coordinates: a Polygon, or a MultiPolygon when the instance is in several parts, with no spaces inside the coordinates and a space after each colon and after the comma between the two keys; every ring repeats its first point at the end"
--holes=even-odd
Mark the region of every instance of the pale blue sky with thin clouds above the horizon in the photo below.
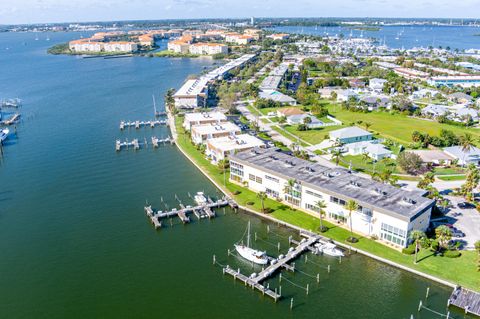
{"type": "Polygon", "coordinates": [[[479,18],[480,0],[0,0],[0,24],[245,17],[479,18]]]}

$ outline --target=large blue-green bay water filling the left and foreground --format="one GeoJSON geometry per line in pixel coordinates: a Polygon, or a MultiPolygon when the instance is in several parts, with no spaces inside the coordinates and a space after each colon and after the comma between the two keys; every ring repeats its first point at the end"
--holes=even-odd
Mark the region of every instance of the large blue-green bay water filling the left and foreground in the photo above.
{"type": "MultiPolygon", "coordinates": [[[[155,231],[146,200],[176,205],[175,194],[216,190],[175,148],[115,153],[116,138],[168,135],[166,128],[120,132],[119,121],[151,118],[151,95],[179,87],[208,59],[82,59],[49,56],[78,34],[0,34],[0,95],[24,99],[23,122],[0,162],[1,318],[439,318],[450,289],[353,255],[341,264],[309,255],[285,278],[277,304],[222,276],[219,262],[251,266],[226,251],[248,220],[258,247],[277,254],[289,230],[226,210],[212,221],[155,231]],[[6,49],[8,48],[8,50],[6,49]],[[326,271],[331,265],[332,272],[326,271]],[[310,276],[320,273],[320,284],[310,276]]],[[[165,45],[162,43],[162,45],[165,45]]],[[[256,269],[258,271],[258,269],[256,269]]],[[[254,270],[253,270],[254,271],[254,270]]],[[[278,277],[270,280],[278,287],[278,277]]],[[[457,314],[460,318],[461,315],[457,314]]]]}

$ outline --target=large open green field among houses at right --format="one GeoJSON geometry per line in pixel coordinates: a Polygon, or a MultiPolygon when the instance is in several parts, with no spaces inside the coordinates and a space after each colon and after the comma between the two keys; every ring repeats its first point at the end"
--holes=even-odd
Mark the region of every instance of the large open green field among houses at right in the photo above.
{"type": "Polygon", "coordinates": [[[480,145],[480,129],[466,128],[462,126],[441,124],[434,121],[426,121],[410,118],[402,114],[390,114],[386,112],[350,112],[342,110],[340,106],[330,106],[329,112],[344,125],[356,123],[357,121],[372,123],[370,131],[378,132],[381,136],[393,141],[407,145],[412,142],[412,132],[420,131],[430,135],[439,135],[441,129],[450,130],[457,135],[470,133],[475,139],[475,144],[480,145]]]}

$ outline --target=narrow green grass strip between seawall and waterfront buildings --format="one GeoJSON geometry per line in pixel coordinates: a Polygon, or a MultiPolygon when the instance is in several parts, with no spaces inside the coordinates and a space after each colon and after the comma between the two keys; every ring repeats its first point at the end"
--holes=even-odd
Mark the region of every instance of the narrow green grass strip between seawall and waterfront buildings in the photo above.
{"type": "MultiPolygon", "coordinates": [[[[178,133],[177,145],[189,154],[197,165],[219,185],[223,185],[223,173],[218,167],[208,162],[204,155],[190,142],[188,135],[186,135],[183,130],[182,118],[177,118],[175,124],[178,133]]],[[[230,183],[228,178],[224,188],[230,193],[235,191],[240,192],[239,195],[232,196],[238,204],[247,206],[247,202],[252,202],[253,205],[250,206],[251,208],[257,211],[261,210],[261,204],[257,199],[256,193],[242,186],[230,183]]],[[[281,202],[267,199],[265,200],[265,207],[273,209],[271,216],[287,223],[312,231],[316,231],[319,227],[319,220],[316,217],[292,209],[281,202]]],[[[325,222],[325,225],[330,228],[322,234],[326,237],[339,242],[345,242],[347,237],[350,236],[350,232],[347,229],[339,227],[338,225],[327,222],[325,222]]],[[[459,258],[446,258],[435,256],[429,250],[422,250],[419,253],[420,262],[414,265],[413,256],[404,255],[397,250],[391,249],[369,238],[361,237],[358,243],[353,244],[353,247],[470,289],[478,290],[480,287],[480,274],[476,271],[477,253],[474,251],[462,252],[462,256],[459,258]]]]}

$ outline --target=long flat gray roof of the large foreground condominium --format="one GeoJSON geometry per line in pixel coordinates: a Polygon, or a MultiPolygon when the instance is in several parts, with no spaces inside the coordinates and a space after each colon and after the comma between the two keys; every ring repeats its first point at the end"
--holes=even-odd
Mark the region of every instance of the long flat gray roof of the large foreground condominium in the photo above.
{"type": "Polygon", "coordinates": [[[346,169],[328,168],[274,148],[240,152],[230,156],[230,160],[243,162],[285,179],[296,179],[313,189],[344,200],[353,199],[361,206],[406,221],[415,219],[434,203],[423,196],[423,191],[407,191],[379,183],[346,169]]]}

